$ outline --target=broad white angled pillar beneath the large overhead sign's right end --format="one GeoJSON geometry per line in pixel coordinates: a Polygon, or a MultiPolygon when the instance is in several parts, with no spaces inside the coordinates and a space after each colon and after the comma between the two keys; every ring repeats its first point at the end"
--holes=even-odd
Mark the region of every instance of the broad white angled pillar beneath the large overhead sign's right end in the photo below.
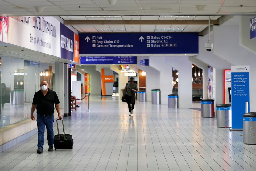
{"type": "Polygon", "coordinates": [[[169,56],[166,57],[166,62],[179,72],[179,107],[192,108],[192,62],[188,56],[169,56]]]}

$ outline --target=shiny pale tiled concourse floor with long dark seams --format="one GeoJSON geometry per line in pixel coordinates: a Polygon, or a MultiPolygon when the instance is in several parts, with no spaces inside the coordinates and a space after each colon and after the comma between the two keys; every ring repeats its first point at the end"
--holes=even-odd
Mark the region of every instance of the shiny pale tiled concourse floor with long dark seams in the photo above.
{"type": "MultiPolygon", "coordinates": [[[[256,146],[243,144],[241,132],[217,128],[215,118],[200,111],[167,105],[127,104],[93,96],[91,112],[84,101],[65,132],[73,150],[37,154],[37,135],[0,153],[1,170],[255,170],[256,146]]],[[[55,134],[56,122],[54,124],[55,134]]],[[[46,137],[46,136],[45,136],[46,137]]]]}

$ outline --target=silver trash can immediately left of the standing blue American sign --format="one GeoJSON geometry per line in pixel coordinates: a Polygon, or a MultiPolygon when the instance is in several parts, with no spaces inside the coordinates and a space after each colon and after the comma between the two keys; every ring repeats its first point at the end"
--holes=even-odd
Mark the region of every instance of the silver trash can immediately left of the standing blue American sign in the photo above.
{"type": "Polygon", "coordinates": [[[216,105],[217,127],[232,126],[232,110],[231,104],[216,105]]]}

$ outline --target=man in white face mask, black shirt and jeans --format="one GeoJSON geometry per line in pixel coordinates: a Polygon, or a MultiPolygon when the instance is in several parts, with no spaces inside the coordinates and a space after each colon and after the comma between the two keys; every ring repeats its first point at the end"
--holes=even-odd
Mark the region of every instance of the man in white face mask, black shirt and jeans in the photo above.
{"type": "Polygon", "coordinates": [[[62,119],[60,115],[60,101],[56,92],[49,89],[49,84],[46,80],[41,82],[41,90],[35,92],[32,108],[31,108],[31,119],[35,120],[33,113],[37,113],[37,130],[38,130],[38,144],[37,153],[43,153],[44,144],[44,128],[47,130],[47,140],[49,149],[53,151],[53,121],[54,121],[54,105],[58,112],[59,120],[62,119]]]}

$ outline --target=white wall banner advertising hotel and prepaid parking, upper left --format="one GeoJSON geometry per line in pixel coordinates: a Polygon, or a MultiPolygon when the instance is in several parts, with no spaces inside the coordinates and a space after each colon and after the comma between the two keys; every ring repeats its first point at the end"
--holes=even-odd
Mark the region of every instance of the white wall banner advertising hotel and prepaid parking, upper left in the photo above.
{"type": "Polygon", "coordinates": [[[0,17],[0,41],[60,57],[60,22],[54,17],[0,17]]]}

